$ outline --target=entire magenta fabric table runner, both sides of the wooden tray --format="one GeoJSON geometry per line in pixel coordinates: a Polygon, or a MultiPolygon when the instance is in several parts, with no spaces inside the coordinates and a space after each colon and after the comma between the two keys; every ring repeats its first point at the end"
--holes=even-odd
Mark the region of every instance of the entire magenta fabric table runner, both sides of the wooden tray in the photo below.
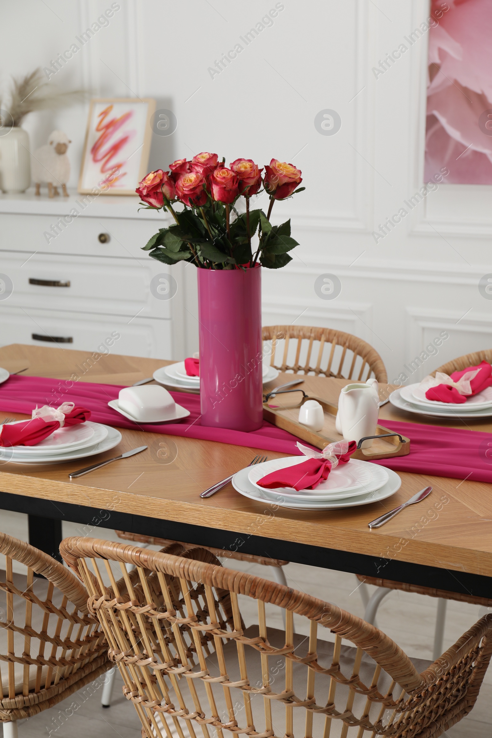
{"type": "MultiPolygon", "coordinates": [[[[179,423],[165,425],[137,425],[108,407],[108,401],[117,399],[121,388],[116,384],[72,383],[63,379],[10,376],[7,382],[0,384],[0,410],[5,413],[31,415],[36,404],[58,407],[65,401],[75,402],[76,405],[89,408],[92,411],[91,419],[97,423],[300,455],[296,446],[297,438],[267,421],[263,421],[260,430],[249,433],[201,427],[200,398],[190,393],[171,393],[178,404],[190,410],[191,415],[188,418],[179,423]]],[[[410,438],[411,451],[408,456],[381,459],[374,463],[387,466],[395,472],[492,483],[491,433],[387,420],[383,424],[410,438]]]]}

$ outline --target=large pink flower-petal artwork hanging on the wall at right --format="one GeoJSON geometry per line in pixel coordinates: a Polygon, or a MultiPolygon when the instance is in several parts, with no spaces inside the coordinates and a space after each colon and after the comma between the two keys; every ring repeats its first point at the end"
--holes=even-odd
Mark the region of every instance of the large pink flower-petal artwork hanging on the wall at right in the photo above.
{"type": "Polygon", "coordinates": [[[492,2],[432,0],[425,182],[492,184],[492,2]]]}

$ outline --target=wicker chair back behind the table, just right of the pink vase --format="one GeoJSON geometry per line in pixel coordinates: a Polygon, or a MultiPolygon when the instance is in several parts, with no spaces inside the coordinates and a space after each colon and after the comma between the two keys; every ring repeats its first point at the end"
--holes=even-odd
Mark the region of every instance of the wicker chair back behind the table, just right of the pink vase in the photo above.
{"type": "MultiPolygon", "coordinates": [[[[265,325],[263,344],[265,342],[271,342],[268,347],[270,365],[280,371],[334,376],[357,382],[365,382],[373,374],[378,382],[388,381],[383,359],[375,348],[350,333],[308,325],[265,325]],[[313,344],[318,351],[314,366],[311,365],[313,344]],[[276,362],[277,355],[279,359],[276,362]]],[[[263,354],[266,354],[264,345],[263,354]]]]}

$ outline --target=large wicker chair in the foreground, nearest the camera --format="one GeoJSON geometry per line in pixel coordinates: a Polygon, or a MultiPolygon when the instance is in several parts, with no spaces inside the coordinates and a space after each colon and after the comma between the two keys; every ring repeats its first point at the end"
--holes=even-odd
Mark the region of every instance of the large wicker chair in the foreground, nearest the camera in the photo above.
{"type": "Polygon", "coordinates": [[[491,658],[487,616],[426,666],[361,618],[222,568],[202,548],[155,552],[73,537],[60,552],[91,593],[144,738],[195,738],[198,727],[204,738],[209,729],[219,738],[437,738],[471,711],[491,658]],[[127,563],[136,569],[128,573],[127,563]],[[258,615],[246,628],[239,603],[247,598],[258,615]],[[270,604],[285,608],[285,631],[267,628],[270,604]],[[294,635],[294,613],[308,637],[294,635]],[[318,638],[319,626],[334,643],[318,638]]]}

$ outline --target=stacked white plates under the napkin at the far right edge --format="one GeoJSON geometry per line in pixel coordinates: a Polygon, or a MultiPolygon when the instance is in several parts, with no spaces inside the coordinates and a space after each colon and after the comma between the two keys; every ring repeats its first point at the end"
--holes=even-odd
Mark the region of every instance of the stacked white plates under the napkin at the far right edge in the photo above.
{"type": "Polygon", "coordinates": [[[420,384],[401,387],[389,396],[389,401],[400,410],[436,418],[483,418],[492,415],[492,387],[487,387],[465,402],[438,402],[426,398],[426,390],[420,384]]]}

